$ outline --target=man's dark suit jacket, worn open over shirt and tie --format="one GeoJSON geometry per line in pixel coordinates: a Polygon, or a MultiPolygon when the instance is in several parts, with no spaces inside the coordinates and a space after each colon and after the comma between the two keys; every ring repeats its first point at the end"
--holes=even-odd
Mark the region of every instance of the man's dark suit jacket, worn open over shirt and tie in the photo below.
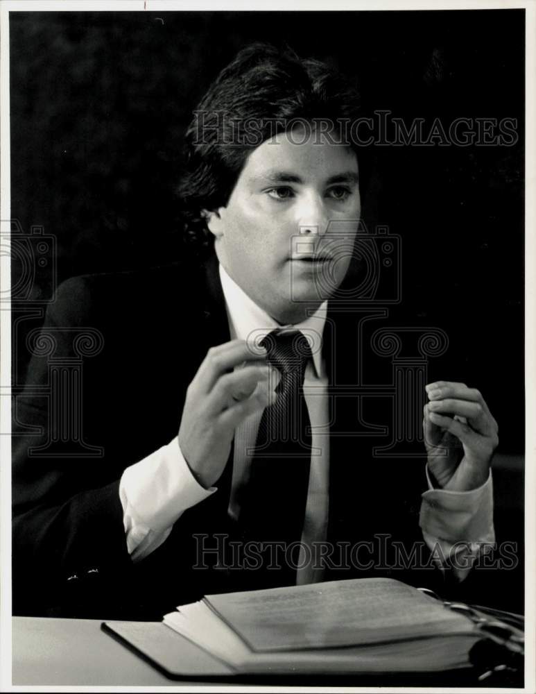
{"type": "MultiPolygon", "coordinates": [[[[331,312],[326,331],[331,387],[355,384],[356,314],[331,312]]],[[[42,335],[53,340],[52,352],[43,355],[45,345],[33,356],[15,406],[15,613],[159,618],[204,593],[254,585],[251,574],[218,568],[216,561],[193,568],[200,546],[194,534],[207,534],[208,545],[215,533],[232,536],[229,464],[218,492],[186,511],[161,547],[137,564],[126,548],[119,500],[123,470],[176,436],[189,382],[208,348],[230,339],[214,257],[67,280],[49,306],[42,335]],[[80,359],[76,335],[87,328],[96,340],[89,351],[96,353],[80,359]],[[80,366],[78,385],[62,385],[61,373],[80,366]],[[80,440],[51,441],[61,438],[58,417],[69,412],[80,440]]],[[[343,395],[331,393],[329,541],[338,548],[374,545],[362,545],[361,568],[352,566],[357,555],[342,562],[336,555],[326,578],[381,573],[437,588],[438,572],[429,566],[408,573],[386,557],[377,566],[379,545],[386,546],[382,535],[406,554],[417,547],[426,559],[418,525],[424,460],[374,458],[378,441],[353,435],[358,401],[343,395]]]]}

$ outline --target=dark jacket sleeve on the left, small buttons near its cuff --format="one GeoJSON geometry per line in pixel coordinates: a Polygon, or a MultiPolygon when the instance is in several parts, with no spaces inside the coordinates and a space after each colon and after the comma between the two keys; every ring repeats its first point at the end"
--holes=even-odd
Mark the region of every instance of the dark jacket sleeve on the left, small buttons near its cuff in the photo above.
{"type": "Polygon", "coordinates": [[[90,313],[85,278],[60,285],[13,401],[15,614],[109,617],[131,599],[121,465],[83,430],[92,415],[84,366],[104,341],[90,313]]]}

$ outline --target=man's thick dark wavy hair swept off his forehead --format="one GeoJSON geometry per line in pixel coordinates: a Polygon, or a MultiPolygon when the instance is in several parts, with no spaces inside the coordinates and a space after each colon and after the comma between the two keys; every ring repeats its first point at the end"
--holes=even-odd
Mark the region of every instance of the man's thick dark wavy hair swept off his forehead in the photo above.
{"type": "Polygon", "coordinates": [[[211,247],[202,210],[225,206],[250,152],[298,123],[334,126],[334,139],[358,153],[363,180],[365,151],[357,152],[345,135],[345,123],[360,116],[356,85],[325,63],[270,44],[239,51],[209,87],[186,133],[177,192],[187,245],[198,252],[211,247]]]}

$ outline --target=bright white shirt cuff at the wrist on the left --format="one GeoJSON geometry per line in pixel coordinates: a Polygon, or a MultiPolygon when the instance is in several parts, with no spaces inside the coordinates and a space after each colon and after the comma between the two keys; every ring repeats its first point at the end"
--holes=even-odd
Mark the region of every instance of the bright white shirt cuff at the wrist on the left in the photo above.
{"type": "Polygon", "coordinates": [[[148,532],[168,534],[186,509],[215,491],[216,487],[205,489],[193,477],[178,437],[126,468],[119,496],[130,553],[148,532]]]}

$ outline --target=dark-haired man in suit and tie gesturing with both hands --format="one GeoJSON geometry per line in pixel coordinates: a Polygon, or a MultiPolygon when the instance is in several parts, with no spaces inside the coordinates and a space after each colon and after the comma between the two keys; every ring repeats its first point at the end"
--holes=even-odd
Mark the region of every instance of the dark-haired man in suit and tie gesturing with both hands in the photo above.
{"type": "Polygon", "coordinates": [[[459,582],[493,541],[496,423],[478,391],[428,387],[420,520],[422,464],[374,459],[339,397],[362,348],[334,301],[361,216],[365,156],[341,127],[357,103],[322,63],[241,51],[187,138],[185,228],[204,260],[60,287],[16,407],[34,428],[14,441],[16,613],[158,618],[207,592],[405,578],[371,540],[412,552],[421,532],[443,559],[469,544],[465,564],[413,581],[459,582]],[[88,330],[102,348],[84,361],[77,455],[58,429],[78,395],[50,364],[67,369],[88,330]]]}

